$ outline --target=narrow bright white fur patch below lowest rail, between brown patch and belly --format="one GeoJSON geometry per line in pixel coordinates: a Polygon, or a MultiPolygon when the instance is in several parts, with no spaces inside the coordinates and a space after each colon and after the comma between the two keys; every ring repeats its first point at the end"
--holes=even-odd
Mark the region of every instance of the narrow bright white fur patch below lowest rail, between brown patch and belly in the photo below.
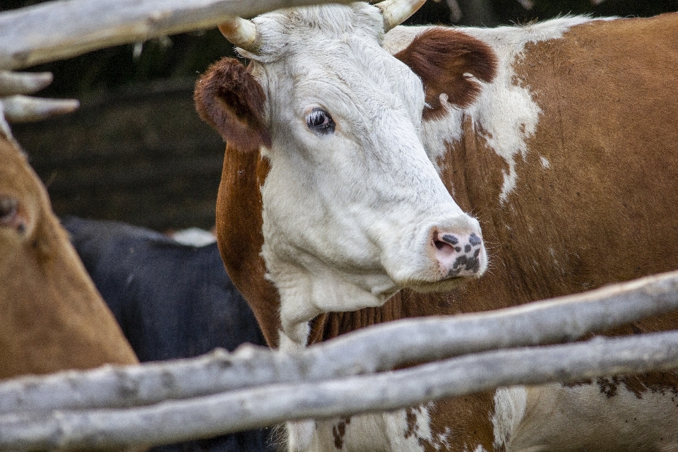
{"type": "Polygon", "coordinates": [[[492,429],[494,430],[494,448],[499,450],[516,432],[525,416],[528,393],[524,386],[499,388],[494,393],[494,414],[492,429]]]}

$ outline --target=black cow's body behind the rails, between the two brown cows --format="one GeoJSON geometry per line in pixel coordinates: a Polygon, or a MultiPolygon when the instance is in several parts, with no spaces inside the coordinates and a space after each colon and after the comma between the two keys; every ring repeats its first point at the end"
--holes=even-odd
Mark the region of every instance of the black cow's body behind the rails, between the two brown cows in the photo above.
{"type": "MultiPolygon", "coordinates": [[[[141,362],[266,345],[215,242],[191,246],[121,222],[61,222],[141,362]]],[[[275,452],[277,446],[270,429],[258,429],[153,450],[275,452]]]]}

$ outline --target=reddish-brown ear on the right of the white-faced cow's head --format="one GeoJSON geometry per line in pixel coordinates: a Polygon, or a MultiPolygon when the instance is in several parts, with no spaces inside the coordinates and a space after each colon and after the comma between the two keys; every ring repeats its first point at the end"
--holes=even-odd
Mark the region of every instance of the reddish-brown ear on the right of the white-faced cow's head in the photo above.
{"type": "Polygon", "coordinates": [[[443,114],[439,99],[442,93],[451,104],[468,107],[480,94],[480,84],[474,78],[490,82],[496,74],[494,51],[460,30],[430,28],[395,57],[410,66],[424,83],[426,102],[430,105],[424,109],[424,119],[443,114]]]}

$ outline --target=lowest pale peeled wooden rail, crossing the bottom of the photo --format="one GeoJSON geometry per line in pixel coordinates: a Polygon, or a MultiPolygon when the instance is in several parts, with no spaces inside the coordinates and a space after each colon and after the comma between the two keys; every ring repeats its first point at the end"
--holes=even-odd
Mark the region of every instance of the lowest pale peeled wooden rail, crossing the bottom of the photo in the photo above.
{"type": "Polygon", "coordinates": [[[678,332],[496,350],[371,376],[276,384],[128,410],[0,416],[0,450],[156,445],[284,420],[393,410],[500,386],[678,367],[678,332]]]}

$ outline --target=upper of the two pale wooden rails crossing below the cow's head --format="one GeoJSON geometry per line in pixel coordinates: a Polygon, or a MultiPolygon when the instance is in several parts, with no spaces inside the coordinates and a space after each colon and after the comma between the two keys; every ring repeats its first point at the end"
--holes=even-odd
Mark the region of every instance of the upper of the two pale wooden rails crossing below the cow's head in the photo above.
{"type": "Polygon", "coordinates": [[[237,388],[369,374],[497,348],[576,340],[678,308],[678,272],[481,314],[405,319],[283,354],[263,347],[0,384],[0,413],[121,408],[237,388]],[[388,346],[384,346],[384,345],[388,346]]]}

